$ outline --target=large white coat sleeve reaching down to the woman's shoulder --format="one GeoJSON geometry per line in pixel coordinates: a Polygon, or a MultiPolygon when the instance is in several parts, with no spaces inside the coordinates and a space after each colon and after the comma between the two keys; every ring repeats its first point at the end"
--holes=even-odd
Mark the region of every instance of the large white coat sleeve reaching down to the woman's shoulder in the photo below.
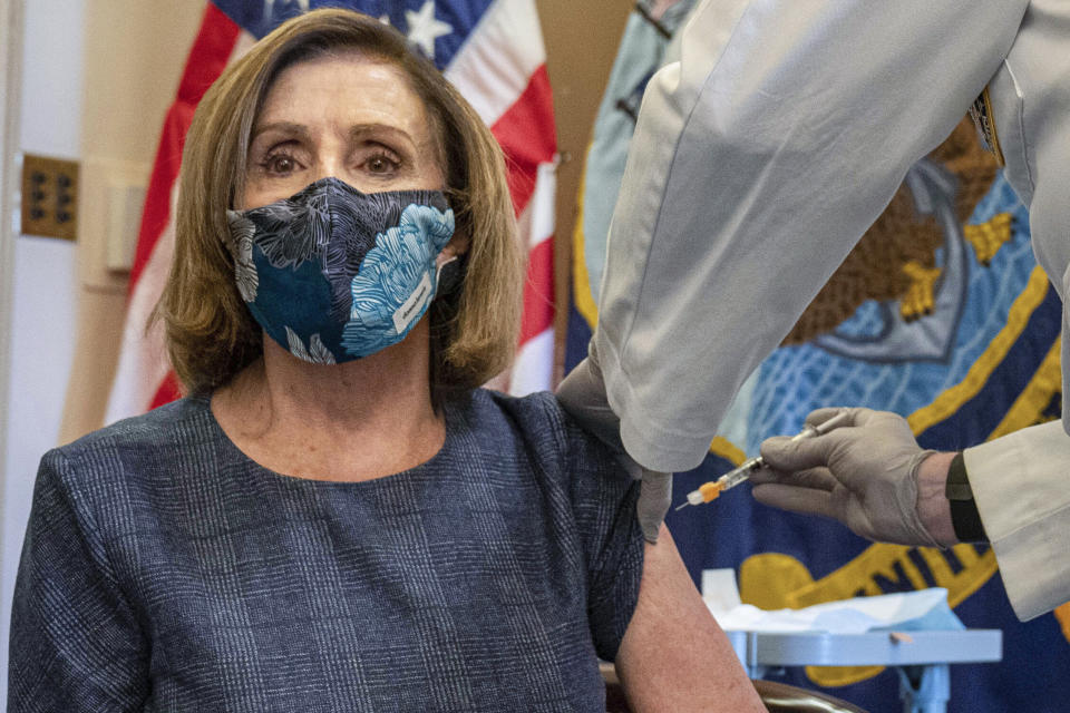
{"type": "Polygon", "coordinates": [[[651,80],[592,356],[628,452],[696,467],[736,391],[965,115],[1023,0],[707,0],[651,80]]]}

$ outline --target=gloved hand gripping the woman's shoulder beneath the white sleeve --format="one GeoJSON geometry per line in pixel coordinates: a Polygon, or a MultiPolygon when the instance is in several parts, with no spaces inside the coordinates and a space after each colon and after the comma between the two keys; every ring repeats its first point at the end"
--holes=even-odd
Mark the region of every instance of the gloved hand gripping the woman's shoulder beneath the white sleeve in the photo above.
{"type": "Polygon", "coordinates": [[[656,544],[658,531],[672,504],[672,473],[646,470],[624,450],[621,443],[621,419],[610,408],[602,370],[593,354],[568,372],[557,387],[556,395],[565,411],[576,419],[584,430],[610,447],[632,478],[642,480],[636,506],[639,525],[643,528],[646,541],[656,544]]]}

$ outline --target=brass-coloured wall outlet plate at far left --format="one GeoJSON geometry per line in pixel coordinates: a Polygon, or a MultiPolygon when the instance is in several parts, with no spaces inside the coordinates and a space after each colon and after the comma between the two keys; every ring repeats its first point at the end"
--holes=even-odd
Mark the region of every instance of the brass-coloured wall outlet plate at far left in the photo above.
{"type": "Polygon", "coordinates": [[[72,241],[78,235],[78,163],[22,156],[23,235],[72,241]]]}

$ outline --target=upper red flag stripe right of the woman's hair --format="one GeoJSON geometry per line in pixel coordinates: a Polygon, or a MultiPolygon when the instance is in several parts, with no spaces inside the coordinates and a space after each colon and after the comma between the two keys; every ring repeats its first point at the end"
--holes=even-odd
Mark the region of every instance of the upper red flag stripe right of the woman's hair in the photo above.
{"type": "Polygon", "coordinates": [[[509,193],[519,215],[535,193],[538,165],[554,160],[557,136],[554,102],[546,65],[532,75],[524,92],[506,109],[494,126],[494,136],[505,152],[509,193]]]}

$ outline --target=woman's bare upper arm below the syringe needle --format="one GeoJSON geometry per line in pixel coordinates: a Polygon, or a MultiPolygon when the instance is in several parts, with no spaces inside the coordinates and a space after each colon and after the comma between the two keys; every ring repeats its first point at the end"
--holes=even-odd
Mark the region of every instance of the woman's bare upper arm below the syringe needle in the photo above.
{"type": "Polygon", "coordinates": [[[639,602],[616,655],[632,710],[765,711],[662,526],[645,545],[639,602]]]}

